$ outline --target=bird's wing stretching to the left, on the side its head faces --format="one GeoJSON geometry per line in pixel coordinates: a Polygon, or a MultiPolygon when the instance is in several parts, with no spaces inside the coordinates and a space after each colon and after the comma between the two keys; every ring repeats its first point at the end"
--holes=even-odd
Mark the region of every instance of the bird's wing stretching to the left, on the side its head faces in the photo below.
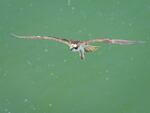
{"type": "Polygon", "coordinates": [[[24,39],[41,39],[41,40],[56,41],[56,42],[60,42],[60,43],[70,46],[70,40],[63,39],[63,38],[57,38],[57,37],[51,37],[51,36],[19,36],[16,34],[11,34],[11,35],[17,38],[24,38],[24,39]]]}

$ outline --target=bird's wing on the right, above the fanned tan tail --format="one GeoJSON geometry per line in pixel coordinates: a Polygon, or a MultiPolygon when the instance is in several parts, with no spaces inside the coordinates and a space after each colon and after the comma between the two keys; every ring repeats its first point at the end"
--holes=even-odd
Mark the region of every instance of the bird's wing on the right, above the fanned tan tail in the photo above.
{"type": "Polygon", "coordinates": [[[143,41],[133,41],[133,40],[121,40],[121,39],[93,39],[93,40],[86,40],[83,41],[86,44],[94,43],[94,42],[104,42],[109,44],[120,44],[120,45],[128,45],[128,44],[137,44],[137,43],[143,43],[143,41]]]}

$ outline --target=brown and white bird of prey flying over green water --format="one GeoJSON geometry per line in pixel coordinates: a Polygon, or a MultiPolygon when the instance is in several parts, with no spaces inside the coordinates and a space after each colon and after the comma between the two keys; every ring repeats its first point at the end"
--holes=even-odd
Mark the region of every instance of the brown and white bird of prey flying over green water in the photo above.
{"type": "Polygon", "coordinates": [[[49,41],[63,43],[67,45],[72,52],[78,52],[81,59],[85,58],[85,53],[94,52],[97,50],[98,46],[93,46],[91,45],[91,43],[103,42],[108,44],[119,44],[119,45],[143,43],[143,41],[109,39],[109,38],[97,38],[97,39],[80,41],[80,40],[69,40],[65,38],[57,38],[52,36],[19,36],[16,34],[12,34],[12,35],[17,38],[23,38],[23,39],[41,39],[41,40],[49,40],[49,41]]]}

